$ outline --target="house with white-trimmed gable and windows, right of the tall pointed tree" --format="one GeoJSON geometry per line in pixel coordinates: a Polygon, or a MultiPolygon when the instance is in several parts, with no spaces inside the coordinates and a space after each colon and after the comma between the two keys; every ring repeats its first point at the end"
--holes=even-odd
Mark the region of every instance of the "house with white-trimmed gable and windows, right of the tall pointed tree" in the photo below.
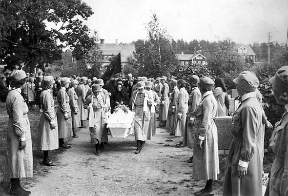
{"type": "Polygon", "coordinates": [[[176,54],[177,59],[181,66],[188,66],[189,64],[194,65],[206,65],[207,60],[204,55],[198,53],[198,54],[176,54]]]}

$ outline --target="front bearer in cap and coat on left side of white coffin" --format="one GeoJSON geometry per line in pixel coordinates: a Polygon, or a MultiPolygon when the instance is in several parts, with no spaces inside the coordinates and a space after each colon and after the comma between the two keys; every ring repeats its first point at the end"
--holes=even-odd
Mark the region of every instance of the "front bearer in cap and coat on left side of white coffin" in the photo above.
{"type": "Polygon", "coordinates": [[[106,115],[104,104],[106,103],[106,98],[104,94],[101,93],[101,86],[99,84],[92,85],[92,94],[86,98],[86,102],[84,103],[85,109],[90,109],[89,112],[89,127],[93,127],[90,131],[93,135],[93,139],[96,147],[96,156],[100,156],[100,145],[101,145],[101,137],[103,135],[103,131],[106,124],[106,115]]]}

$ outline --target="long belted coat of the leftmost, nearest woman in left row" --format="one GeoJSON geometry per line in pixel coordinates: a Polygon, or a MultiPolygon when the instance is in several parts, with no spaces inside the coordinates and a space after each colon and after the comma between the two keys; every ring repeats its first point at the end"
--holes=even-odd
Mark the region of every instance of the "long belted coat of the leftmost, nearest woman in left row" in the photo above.
{"type": "Polygon", "coordinates": [[[33,156],[28,106],[20,89],[11,90],[6,98],[9,116],[7,126],[7,170],[10,178],[32,177],[33,156]],[[26,138],[26,148],[20,150],[19,138],[26,138]]]}

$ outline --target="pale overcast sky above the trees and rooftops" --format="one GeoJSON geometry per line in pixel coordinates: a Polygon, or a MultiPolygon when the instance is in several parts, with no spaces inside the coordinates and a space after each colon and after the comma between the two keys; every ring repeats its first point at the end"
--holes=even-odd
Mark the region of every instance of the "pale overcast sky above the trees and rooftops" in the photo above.
{"type": "Polygon", "coordinates": [[[288,0],[83,0],[94,11],[87,25],[105,43],[146,39],[156,13],[173,39],[230,38],[244,44],[286,42],[288,0]]]}

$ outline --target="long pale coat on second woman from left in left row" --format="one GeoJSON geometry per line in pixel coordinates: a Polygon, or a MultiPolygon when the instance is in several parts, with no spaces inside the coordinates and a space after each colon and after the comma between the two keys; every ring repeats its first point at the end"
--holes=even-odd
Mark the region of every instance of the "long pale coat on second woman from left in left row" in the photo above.
{"type": "Polygon", "coordinates": [[[55,150],[59,148],[58,143],[58,125],[54,109],[54,99],[51,90],[44,90],[40,95],[40,103],[43,109],[39,120],[39,149],[55,150]],[[51,123],[56,124],[55,129],[51,129],[51,123]]]}

